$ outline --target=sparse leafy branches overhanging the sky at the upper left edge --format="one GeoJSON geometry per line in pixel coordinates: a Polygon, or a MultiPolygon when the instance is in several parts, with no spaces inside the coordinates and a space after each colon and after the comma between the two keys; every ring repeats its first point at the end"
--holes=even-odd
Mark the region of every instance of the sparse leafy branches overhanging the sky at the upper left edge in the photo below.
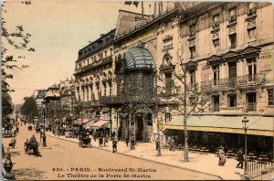
{"type": "MultiPolygon", "coordinates": [[[[5,3],[3,2],[1,10],[7,13],[5,10],[5,3]]],[[[30,1],[21,2],[24,5],[30,5],[30,1]]],[[[31,34],[26,33],[22,25],[16,26],[15,30],[8,30],[5,27],[5,18],[2,17],[1,29],[2,29],[2,92],[13,91],[8,80],[13,79],[12,69],[25,69],[26,65],[19,65],[19,59],[26,59],[25,56],[20,55],[21,50],[33,52],[36,51],[35,48],[30,48],[28,46],[31,34]],[[17,55],[18,54],[18,55],[17,55]]]]}

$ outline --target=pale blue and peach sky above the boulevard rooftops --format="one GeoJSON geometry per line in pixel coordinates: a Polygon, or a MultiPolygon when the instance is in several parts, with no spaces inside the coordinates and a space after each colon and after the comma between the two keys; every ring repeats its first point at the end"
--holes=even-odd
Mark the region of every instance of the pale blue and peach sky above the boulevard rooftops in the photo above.
{"type": "MultiPolygon", "coordinates": [[[[116,27],[119,9],[141,13],[141,7],[124,5],[123,1],[94,2],[88,0],[31,0],[31,5],[22,5],[20,1],[5,4],[7,13],[3,13],[7,27],[23,25],[31,33],[31,47],[36,52],[26,56],[23,64],[29,68],[14,69],[14,80],[10,81],[16,92],[12,93],[15,103],[22,103],[25,96],[34,90],[47,89],[59,80],[71,78],[75,60],[80,48],[90,40],[100,37],[116,27]]],[[[145,4],[145,13],[150,14],[145,4]]],[[[153,13],[153,9],[151,10],[153,13]]]]}

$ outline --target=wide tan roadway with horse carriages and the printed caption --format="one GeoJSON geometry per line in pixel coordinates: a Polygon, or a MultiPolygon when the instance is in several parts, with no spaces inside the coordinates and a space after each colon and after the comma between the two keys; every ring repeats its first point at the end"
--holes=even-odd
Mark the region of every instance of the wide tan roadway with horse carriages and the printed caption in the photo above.
{"type": "MultiPolygon", "coordinates": [[[[20,127],[16,136],[16,148],[11,149],[12,161],[15,163],[13,173],[18,180],[219,179],[216,176],[113,154],[97,148],[80,148],[78,144],[49,136],[47,136],[47,148],[39,146],[42,157],[27,155],[24,153],[24,142],[33,134],[39,142],[38,133],[27,131],[26,126],[20,127]],[[140,168],[142,168],[141,171],[140,168]]],[[[10,138],[4,138],[4,145],[6,146],[10,140],[10,138]]]]}

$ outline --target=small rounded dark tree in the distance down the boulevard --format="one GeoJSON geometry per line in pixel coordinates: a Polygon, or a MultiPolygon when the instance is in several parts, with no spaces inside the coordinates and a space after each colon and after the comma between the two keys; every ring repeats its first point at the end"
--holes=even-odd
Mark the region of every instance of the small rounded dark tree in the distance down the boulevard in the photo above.
{"type": "Polygon", "coordinates": [[[21,113],[28,118],[34,118],[35,116],[38,116],[39,112],[37,108],[37,101],[33,96],[27,98],[23,103],[21,107],[21,113]]]}

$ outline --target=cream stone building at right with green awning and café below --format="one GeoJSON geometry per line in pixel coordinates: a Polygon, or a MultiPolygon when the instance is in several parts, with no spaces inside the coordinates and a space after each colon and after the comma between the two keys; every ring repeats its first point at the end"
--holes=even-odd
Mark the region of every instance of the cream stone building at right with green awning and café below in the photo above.
{"type": "MultiPolygon", "coordinates": [[[[189,144],[272,152],[274,130],[273,6],[271,3],[199,3],[180,13],[179,47],[189,85],[210,106],[187,120],[189,144]]],[[[191,96],[188,102],[190,103],[191,96]]],[[[164,123],[166,135],[184,137],[183,116],[164,123]]]]}

